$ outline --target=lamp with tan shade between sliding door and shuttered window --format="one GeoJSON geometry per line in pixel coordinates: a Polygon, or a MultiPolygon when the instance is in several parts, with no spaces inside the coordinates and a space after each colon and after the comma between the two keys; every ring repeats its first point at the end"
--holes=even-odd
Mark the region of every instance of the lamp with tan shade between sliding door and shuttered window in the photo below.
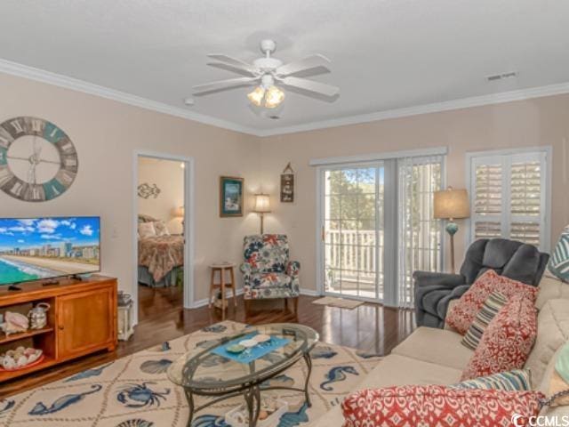
{"type": "Polygon", "coordinates": [[[454,220],[470,216],[469,194],[466,189],[443,189],[435,191],[435,213],[437,219],[448,220],[445,230],[451,238],[451,271],[454,273],[454,235],[459,225],[454,220]]]}

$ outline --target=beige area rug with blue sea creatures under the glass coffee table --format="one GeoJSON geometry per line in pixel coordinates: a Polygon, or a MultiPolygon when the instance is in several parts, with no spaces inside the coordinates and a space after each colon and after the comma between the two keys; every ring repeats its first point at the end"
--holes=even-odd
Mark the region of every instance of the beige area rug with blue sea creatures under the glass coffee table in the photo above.
{"type": "MultiPolygon", "coordinates": [[[[180,387],[172,384],[166,370],[196,346],[207,345],[221,335],[236,334],[245,327],[232,321],[205,327],[201,331],[170,342],[171,350],[161,346],[134,353],[115,362],[88,369],[64,380],[19,395],[0,399],[0,427],[181,427],[188,419],[188,405],[180,387]]],[[[357,350],[318,343],[312,352],[310,379],[312,407],[302,393],[261,391],[289,403],[276,427],[308,425],[354,390],[380,357],[357,350]]],[[[270,380],[302,387],[306,365],[300,361],[283,375],[270,380]]],[[[196,413],[193,427],[228,427],[223,415],[239,406],[243,399],[222,401],[196,413]]],[[[204,398],[196,398],[196,405],[204,398]]]]}

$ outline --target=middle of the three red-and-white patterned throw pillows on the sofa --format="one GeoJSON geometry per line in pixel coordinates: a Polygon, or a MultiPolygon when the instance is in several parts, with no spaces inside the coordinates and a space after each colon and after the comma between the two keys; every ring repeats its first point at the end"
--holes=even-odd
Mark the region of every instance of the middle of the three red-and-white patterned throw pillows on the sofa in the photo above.
{"type": "Polygon", "coordinates": [[[537,336],[537,310],[525,296],[514,296],[492,319],[461,381],[524,367],[537,336]]]}

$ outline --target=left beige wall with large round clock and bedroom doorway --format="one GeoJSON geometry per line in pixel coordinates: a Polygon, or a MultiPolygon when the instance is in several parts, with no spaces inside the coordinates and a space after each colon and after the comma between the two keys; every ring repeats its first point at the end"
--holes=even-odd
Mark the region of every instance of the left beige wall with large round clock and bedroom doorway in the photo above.
{"type": "Polygon", "coordinates": [[[239,261],[245,234],[257,230],[252,214],[218,214],[219,176],[258,183],[259,142],[251,136],[169,117],[52,85],[0,74],[0,120],[43,117],[60,126],[79,155],[76,181],[62,196],[25,203],[0,192],[0,216],[100,215],[102,269],[132,288],[133,152],[145,149],[195,158],[196,300],[207,296],[207,265],[239,261]]]}

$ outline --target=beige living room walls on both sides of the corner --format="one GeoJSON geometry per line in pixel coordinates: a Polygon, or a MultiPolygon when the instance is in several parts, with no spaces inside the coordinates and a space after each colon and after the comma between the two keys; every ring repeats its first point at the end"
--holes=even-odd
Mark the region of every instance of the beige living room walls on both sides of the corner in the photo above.
{"type": "MultiPolygon", "coordinates": [[[[219,217],[218,180],[223,174],[243,176],[249,196],[260,189],[260,182],[272,195],[266,230],[290,236],[293,258],[302,262],[301,287],[306,289],[316,289],[316,173],[309,166],[311,158],[447,146],[448,184],[461,188],[468,151],[549,145],[552,244],[569,223],[569,146],[564,149],[564,139],[569,139],[569,95],[261,139],[2,74],[0,93],[0,120],[51,120],[74,141],[80,161],[77,179],[63,196],[32,204],[0,193],[0,216],[100,215],[103,270],[117,276],[127,291],[133,275],[136,149],[196,159],[196,300],[207,295],[207,265],[240,261],[242,238],[259,227],[257,215],[250,212],[252,197],[245,200],[243,218],[219,217]],[[280,204],[278,180],[288,161],[297,173],[296,201],[280,204]]],[[[458,259],[464,249],[463,231],[464,227],[457,235],[458,259]]]]}

